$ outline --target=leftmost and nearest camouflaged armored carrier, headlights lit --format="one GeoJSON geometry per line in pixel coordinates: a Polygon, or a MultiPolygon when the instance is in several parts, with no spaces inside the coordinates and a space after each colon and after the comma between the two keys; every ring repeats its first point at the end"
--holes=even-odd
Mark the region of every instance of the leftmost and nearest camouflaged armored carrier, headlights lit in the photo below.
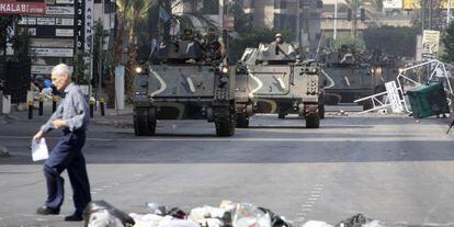
{"type": "Polygon", "coordinates": [[[207,120],[217,136],[234,135],[235,68],[204,61],[196,41],[163,43],[155,52],[136,68],[135,134],[154,135],[157,120],[207,120]]]}

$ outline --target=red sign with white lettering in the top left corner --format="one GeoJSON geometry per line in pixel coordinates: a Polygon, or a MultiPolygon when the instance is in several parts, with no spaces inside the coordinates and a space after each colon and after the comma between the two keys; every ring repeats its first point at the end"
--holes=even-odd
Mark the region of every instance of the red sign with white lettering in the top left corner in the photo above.
{"type": "Polygon", "coordinates": [[[36,15],[45,13],[45,2],[0,1],[0,14],[36,15]]]}

